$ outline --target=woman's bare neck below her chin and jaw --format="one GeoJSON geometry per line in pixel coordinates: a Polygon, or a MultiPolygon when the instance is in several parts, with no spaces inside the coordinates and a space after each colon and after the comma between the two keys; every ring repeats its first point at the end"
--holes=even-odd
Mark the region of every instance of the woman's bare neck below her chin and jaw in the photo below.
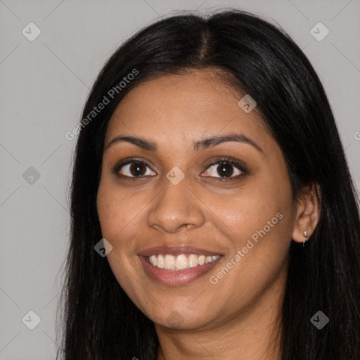
{"type": "Polygon", "coordinates": [[[281,306],[285,274],[248,309],[241,309],[220,326],[174,330],[155,325],[158,360],[280,360],[281,306]]]}

